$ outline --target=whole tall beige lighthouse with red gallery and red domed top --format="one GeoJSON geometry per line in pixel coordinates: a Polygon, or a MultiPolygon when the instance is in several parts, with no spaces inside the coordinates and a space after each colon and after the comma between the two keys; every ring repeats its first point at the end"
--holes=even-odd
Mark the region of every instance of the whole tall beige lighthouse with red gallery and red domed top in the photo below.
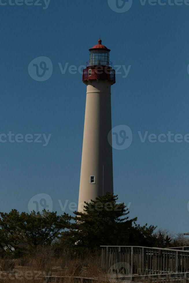
{"type": "Polygon", "coordinates": [[[106,192],[113,193],[111,86],[116,82],[110,62],[110,49],[98,40],[89,49],[90,58],[83,70],[87,86],[83,150],[79,185],[78,211],[84,202],[95,200],[106,192]]]}

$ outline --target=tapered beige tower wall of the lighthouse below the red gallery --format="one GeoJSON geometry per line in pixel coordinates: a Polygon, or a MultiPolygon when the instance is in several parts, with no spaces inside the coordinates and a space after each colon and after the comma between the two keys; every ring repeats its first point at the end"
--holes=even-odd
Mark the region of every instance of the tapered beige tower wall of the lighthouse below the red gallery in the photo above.
{"type": "Polygon", "coordinates": [[[108,80],[88,80],[84,138],[81,161],[78,211],[83,211],[84,201],[95,200],[107,191],[113,193],[113,165],[111,85],[108,80]],[[94,183],[90,183],[94,176],[94,183]]]}

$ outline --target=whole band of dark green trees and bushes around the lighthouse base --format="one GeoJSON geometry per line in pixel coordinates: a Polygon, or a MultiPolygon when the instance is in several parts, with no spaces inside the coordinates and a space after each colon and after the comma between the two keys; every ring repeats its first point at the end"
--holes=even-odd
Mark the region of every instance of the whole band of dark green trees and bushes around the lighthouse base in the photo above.
{"type": "Polygon", "coordinates": [[[44,210],[30,214],[17,210],[0,213],[0,250],[3,254],[19,257],[25,250],[54,245],[56,250],[70,247],[70,252],[82,254],[84,250],[97,250],[101,245],[133,245],[169,247],[171,237],[167,231],[155,233],[156,226],[140,226],[137,218],[129,219],[129,211],[118,197],[106,193],[90,203],[85,202],[84,213],[64,213],[44,210]],[[2,245],[6,245],[5,252],[2,245]],[[12,252],[14,247],[15,251],[12,252]],[[76,250],[75,250],[76,249],[76,250]]]}

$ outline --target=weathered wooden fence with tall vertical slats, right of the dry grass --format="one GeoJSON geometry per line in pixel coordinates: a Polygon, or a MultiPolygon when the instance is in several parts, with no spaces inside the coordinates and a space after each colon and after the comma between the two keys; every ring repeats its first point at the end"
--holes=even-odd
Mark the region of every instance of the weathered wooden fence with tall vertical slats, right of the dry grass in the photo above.
{"type": "Polygon", "coordinates": [[[160,274],[189,271],[189,251],[102,246],[102,269],[108,273],[160,274]]]}

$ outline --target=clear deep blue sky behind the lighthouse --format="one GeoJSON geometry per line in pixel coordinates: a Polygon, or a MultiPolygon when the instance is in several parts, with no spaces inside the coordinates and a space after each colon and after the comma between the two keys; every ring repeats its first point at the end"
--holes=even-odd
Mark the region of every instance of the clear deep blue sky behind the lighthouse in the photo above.
{"type": "Polygon", "coordinates": [[[39,193],[59,214],[61,202],[78,202],[86,85],[79,72],[62,74],[58,63],[86,64],[101,34],[113,66],[131,65],[112,86],[112,126],[133,133],[129,148],[113,150],[114,192],[131,203],[139,224],[188,232],[189,143],[142,143],[138,131],[189,133],[189,6],[133,2],[123,13],[107,0],[51,0],[47,9],[0,5],[0,132],[52,134],[46,147],[0,143],[0,211],[28,212],[39,193]],[[53,64],[43,82],[28,73],[39,56],[53,64]]]}

